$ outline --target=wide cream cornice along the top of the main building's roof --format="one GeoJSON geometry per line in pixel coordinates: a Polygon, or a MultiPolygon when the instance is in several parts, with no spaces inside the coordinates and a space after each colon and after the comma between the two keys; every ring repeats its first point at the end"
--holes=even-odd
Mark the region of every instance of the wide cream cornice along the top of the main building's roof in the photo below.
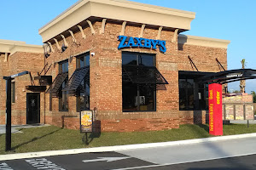
{"type": "Polygon", "coordinates": [[[90,17],[189,30],[195,13],[125,0],[80,0],[39,29],[43,42],[90,17]]]}

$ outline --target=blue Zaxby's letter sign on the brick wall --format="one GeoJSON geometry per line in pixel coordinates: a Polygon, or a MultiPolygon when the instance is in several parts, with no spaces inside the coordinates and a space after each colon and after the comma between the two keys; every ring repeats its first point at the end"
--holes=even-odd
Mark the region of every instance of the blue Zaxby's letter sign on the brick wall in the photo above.
{"type": "Polygon", "coordinates": [[[159,48],[161,53],[166,53],[166,41],[147,39],[143,37],[118,37],[120,43],[118,49],[121,48],[159,48]]]}

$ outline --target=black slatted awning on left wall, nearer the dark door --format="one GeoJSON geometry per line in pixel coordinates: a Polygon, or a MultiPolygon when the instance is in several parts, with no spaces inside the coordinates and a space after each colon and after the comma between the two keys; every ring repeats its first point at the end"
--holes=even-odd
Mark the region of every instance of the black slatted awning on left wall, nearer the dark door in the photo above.
{"type": "Polygon", "coordinates": [[[61,84],[65,81],[67,77],[68,72],[58,74],[57,77],[55,77],[54,82],[52,82],[51,86],[46,91],[46,93],[52,93],[52,97],[58,97],[61,84]]]}

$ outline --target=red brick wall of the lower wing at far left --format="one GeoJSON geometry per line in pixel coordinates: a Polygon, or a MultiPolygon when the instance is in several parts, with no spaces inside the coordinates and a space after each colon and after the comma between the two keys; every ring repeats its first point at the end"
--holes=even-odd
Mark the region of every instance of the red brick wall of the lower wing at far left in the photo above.
{"type": "MultiPolygon", "coordinates": [[[[0,58],[0,77],[7,77],[17,74],[22,71],[30,71],[32,77],[37,76],[44,67],[44,55],[32,54],[24,52],[16,52],[9,56],[8,61],[4,61],[4,56],[0,58]]],[[[12,104],[12,123],[26,124],[26,93],[33,93],[26,89],[26,86],[31,85],[31,77],[24,75],[15,77],[15,103],[12,104]]],[[[5,124],[6,110],[6,91],[5,81],[0,80],[0,123],[5,124]]],[[[38,84],[37,84],[38,85],[38,84]]]]}

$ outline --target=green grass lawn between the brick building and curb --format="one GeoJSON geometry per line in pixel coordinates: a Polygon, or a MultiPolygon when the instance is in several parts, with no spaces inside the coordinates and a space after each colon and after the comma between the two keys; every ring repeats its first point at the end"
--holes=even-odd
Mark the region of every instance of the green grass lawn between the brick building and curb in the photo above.
{"type": "MultiPolygon", "coordinates": [[[[61,127],[35,127],[21,130],[23,133],[12,134],[12,149],[8,153],[21,153],[43,150],[66,150],[74,148],[111,146],[122,144],[143,144],[184,139],[212,137],[207,125],[181,125],[178,129],[133,133],[97,133],[90,135],[90,144],[82,142],[84,134],[79,130],[61,127]]],[[[224,125],[224,135],[256,133],[256,125],[224,125]]],[[[5,135],[0,134],[0,154],[6,154],[5,135]]]]}

